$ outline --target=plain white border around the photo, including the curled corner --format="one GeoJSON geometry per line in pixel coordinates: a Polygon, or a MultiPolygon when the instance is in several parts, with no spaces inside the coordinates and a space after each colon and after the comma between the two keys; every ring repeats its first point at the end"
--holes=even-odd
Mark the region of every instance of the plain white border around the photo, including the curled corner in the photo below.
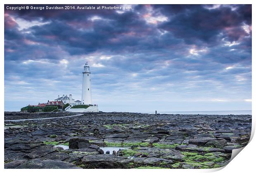
{"type": "MultiPolygon", "coordinates": [[[[85,0],[72,0],[72,1],[68,1],[68,0],[62,0],[62,1],[58,1],[58,0],[43,0],[43,1],[35,1],[35,0],[22,0],[22,1],[17,1],[17,0],[2,0],[1,1],[2,4],[2,8],[1,8],[1,14],[4,14],[4,4],[253,4],[252,5],[252,16],[253,16],[253,23],[254,23],[254,19],[255,19],[255,1],[254,0],[173,0],[173,1],[167,1],[167,0],[107,0],[107,1],[103,1],[103,0],[93,0],[93,1],[85,1],[85,0]]],[[[2,28],[1,28],[1,40],[3,42],[4,40],[4,15],[2,15],[1,17],[1,22],[2,22],[2,28]]],[[[254,27],[252,27],[254,30],[254,27]]],[[[256,65],[256,61],[255,61],[255,47],[254,47],[254,43],[256,42],[255,37],[253,37],[252,39],[252,57],[254,57],[252,59],[252,100],[254,100],[255,98],[255,65],[256,65]]],[[[1,52],[2,54],[4,54],[4,45],[2,45],[1,47],[1,52]]],[[[1,73],[0,73],[0,79],[2,81],[1,84],[1,100],[0,100],[0,111],[2,113],[2,129],[4,129],[4,116],[3,116],[3,112],[4,112],[4,55],[2,55],[2,59],[1,59],[1,63],[0,63],[0,69],[1,69],[1,73]]],[[[256,108],[256,103],[252,102],[252,107],[256,108]]],[[[252,117],[253,117],[253,125],[252,125],[252,134],[254,134],[255,131],[255,110],[252,109],[252,117]]],[[[4,169],[4,134],[3,134],[3,130],[1,133],[1,139],[2,139],[2,152],[1,152],[1,163],[2,163],[2,169],[4,169]]],[[[253,136],[253,135],[252,135],[253,136]]],[[[219,172],[252,172],[252,170],[254,170],[254,157],[255,157],[255,146],[256,146],[256,141],[255,139],[251,140],[251,142],[248,144],[248,146],[246,146],[244,148],[244,150],[239,154],[238,157],[235,157],[224,169],[220,170],[219,172]]],[[[68,173],[69,171],[72,172],[130,172],[130,171],[136,171],[136,172],[183,172],[183,173],[191,173],[191,172],[213,172],[213,171],[217,171],[218,168],[216,169],[208,169],[208,170],[203,170],[203,169],[183,169],[183,170],[177,170],[177,169],[157,169],[157,170],[130,170],[130,169],[104,169],[104,170],[67,170],[67,169],[59,169],[59,170],[51,170],[51,169],[47,169],[47,172],[62,172],[62,173],[68,173]]],[[[11,170],[11,169],[6,169],[3,170],[5,172],[17,172],[19,171],[19,173],[25,173],[25,172],[45,172],[46,170],[28,170],[28,169],[23,169],[23,170],[11,170]]]]}

